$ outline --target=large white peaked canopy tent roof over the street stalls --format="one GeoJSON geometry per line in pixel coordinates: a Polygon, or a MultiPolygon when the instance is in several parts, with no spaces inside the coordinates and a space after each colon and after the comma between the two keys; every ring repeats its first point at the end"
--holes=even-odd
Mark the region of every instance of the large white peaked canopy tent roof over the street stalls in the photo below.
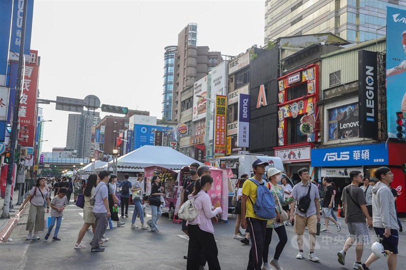
{"type": "MultiPolygon", "coordinates": [[[[183,153],[167,146],[144,145],[117,159],[119,169],[143,169],[150,166],[159,166],[171,170],[179,170],[196,162],[202,164],[183,153]]],[[[108,168],[113,167],[109,162],[108,168]]]]}

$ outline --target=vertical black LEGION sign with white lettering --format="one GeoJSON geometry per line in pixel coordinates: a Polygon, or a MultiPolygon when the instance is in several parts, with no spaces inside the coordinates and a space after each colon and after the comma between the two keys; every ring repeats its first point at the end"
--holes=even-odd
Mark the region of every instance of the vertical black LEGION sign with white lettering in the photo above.
{"type": "Polygon", "coordinates": [[[358,51],[359,137],[378,139],[377,53],[358,51]]]}

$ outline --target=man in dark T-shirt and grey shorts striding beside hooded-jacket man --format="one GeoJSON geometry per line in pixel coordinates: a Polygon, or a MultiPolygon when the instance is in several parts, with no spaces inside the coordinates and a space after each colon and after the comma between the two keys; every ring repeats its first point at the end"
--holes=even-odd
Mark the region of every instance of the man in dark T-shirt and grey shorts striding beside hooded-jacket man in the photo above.
{"type": "Polygon", "coordinates": [[[350,185],[344,187],[343,194],[341,196],[341,200],[343,201],[343,211],[345,213],[345,221],[348,225],[350,237],[347,239],[343,250],[337,253],[337,256],[339,257],[339,263],[345,265],[347,251],[356,242],[356,258],[353,268],[358,269],[358,265],[361,265],[364,242],[369,243],[368,227],[365,224],[365,217],[368,221],[368,226],[372,226],[372,218],[369,216],[366,208],[364,192],[358,187],[358,185],[363,181],[361,172],[350,172],[350,178],[352,182],[350,185]]]}

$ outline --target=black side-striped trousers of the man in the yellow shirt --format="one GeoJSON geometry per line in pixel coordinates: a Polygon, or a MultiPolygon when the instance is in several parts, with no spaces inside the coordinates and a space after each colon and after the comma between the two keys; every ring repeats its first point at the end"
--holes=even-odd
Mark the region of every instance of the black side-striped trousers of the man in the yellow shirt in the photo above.
{"type": "Polygon", "coordinates": [[[261,270],[266,234],[266,220],[247,217],[247,226],[250,227],[251,237],[251,249],[247,270],[261,270]]]}

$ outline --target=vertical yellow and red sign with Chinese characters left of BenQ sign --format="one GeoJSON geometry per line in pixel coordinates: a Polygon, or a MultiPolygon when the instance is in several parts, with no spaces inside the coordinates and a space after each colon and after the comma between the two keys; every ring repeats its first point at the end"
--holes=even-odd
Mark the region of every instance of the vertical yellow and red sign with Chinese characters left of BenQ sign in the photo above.
{"type": "Polygon", "coordinates": [[[226,96],[216,96],[214,156],[225,155],[225,126],[227,113],[226,99],[226,96]]]}

